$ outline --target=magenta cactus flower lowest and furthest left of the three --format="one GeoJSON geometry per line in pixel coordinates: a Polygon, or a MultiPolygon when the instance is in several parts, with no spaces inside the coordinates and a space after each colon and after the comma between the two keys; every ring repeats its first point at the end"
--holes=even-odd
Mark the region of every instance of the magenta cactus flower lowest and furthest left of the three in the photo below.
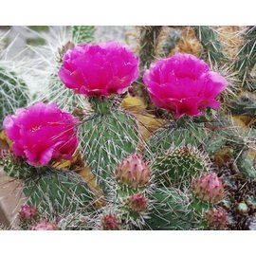
{"type": "Polygon", "coordinates": [[[4,129],[13,142],[14,155],[33,166],[45,166],[51,159],[70,159],[78,146],[78,119],[56,104],[36,103],[18,109],[4,120],[4,129]]]}

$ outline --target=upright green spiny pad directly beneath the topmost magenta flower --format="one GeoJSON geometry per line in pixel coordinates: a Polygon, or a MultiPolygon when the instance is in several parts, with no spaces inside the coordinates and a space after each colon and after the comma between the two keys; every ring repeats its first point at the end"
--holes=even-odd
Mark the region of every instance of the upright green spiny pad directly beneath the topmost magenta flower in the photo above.
{"type": "Polygon", "coordinates": [[[137,122],[123,112],[95,114],[81,125],[82,155],[101,185],[114,180],[117,164],[137,144],[137,122]]]}

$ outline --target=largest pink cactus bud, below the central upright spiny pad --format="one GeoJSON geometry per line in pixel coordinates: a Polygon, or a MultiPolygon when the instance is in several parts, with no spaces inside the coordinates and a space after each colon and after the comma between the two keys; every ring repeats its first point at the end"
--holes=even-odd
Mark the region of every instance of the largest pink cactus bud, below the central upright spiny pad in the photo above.
{"type": "Polygon", "coordinates": [[[137,189],[149,184],[150,170],[141,155],[130,155],[123,159],[116,170],[119,184],[137,189]]]}

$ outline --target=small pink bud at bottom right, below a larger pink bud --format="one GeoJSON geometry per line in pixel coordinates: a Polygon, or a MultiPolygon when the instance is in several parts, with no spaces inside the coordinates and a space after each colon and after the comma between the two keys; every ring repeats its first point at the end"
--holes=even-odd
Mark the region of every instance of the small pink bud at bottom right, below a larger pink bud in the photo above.
{"type": "Polygon", "coordinates": [[[227,229],[228,212],[223,208],[208,210],[206,219],[210,229],[227,229]]]}

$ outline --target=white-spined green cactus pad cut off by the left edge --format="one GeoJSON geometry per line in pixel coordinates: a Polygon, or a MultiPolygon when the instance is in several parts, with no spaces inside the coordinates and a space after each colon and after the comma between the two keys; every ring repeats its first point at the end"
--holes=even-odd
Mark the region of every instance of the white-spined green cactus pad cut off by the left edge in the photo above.
{"type": "Polygon", "coordinates": [[[0,67],[0,129],[3,120],[17,108],[27,105],[28,89],[24,81],[13,72],[0,67]]]}

